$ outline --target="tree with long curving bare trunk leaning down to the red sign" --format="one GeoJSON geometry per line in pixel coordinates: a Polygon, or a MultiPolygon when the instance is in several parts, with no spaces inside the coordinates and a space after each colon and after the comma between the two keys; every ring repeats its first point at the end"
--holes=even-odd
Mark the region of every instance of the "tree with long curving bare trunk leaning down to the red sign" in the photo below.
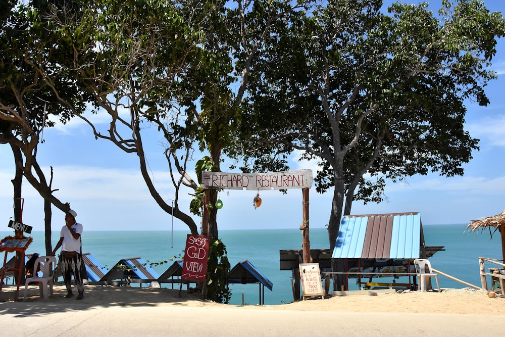
{"type": "Polygon", "coordinates": [[[104,132],[84,115],[75,116],[88,123],[96,138],[136,154],[151,196],[196,234],[193,219],[179,208],[180,187],[197,185],[186,170],[192,135],[183,131],[190,123],[174,93],[184,91],[188,100],[195,99],[190,87],[180,88],[178,77],[200,57],[199,25],[184,21],[174,3],[160,0],[142,6],[133,1],[81,2],[75,14],[62,6],[42,16],[52,23],[53,33],[72,46],[69,70],[92,96],[92,112],[111,117],[110,128],[104,132]],[[173,209],[159,195],[146,162],[142,135],[153,124],[168,144],[165,156],[176,189],[173,209]]]}

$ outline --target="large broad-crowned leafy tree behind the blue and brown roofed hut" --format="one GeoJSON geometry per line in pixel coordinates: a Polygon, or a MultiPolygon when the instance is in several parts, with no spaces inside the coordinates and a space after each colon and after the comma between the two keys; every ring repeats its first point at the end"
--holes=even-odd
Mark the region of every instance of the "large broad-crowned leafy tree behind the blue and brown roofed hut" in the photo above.
{"type": "Polygon", "coordinates": [[[353,200],[379,202],[386,179],[462,175],[478,149],[464,100],[488,104],[505,21],[478,1],[442,5],[435,17],[426,3],[383,14],[382,1],[329,1],[271,34],[252,70],[234,151],[254,170],[293,150],[318,160],[317,191],[333,188],[330,249],[353,200]]]}

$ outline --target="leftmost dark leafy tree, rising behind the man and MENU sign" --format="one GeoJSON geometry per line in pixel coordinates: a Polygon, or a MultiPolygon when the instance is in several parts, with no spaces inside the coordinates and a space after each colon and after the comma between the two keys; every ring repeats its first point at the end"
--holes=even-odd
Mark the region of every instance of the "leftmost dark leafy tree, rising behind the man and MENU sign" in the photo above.
{"type": "MultiPolygon", "coordinates": [[[[22,2],[9,2],[3,11],[3,26],[0,30],[0,143],[9,144],[15,160],[16,176],[13,180],[15,200],[21,198],[23,177],[40,193],[62,211],[70,209],[53,195],[51,178],[47,181],[39,166],[36,154],[41,143],[44,127],[54,123],[49,116],[58,116],[67,121],[72,111],[82,111],[83,97],[73,78],[61,67],[68,53],[60,41],[52,38],[47,26],[34,21],[31,6],[22,2]],[[65,102],[66,104],[63,104],[65,102]]],[[[45,241],[46,253],[51,248],[51,208],[46,203],[45,241]]],[[[16,220],[20,219],[20,206],[15,209],[16,220]]]]}

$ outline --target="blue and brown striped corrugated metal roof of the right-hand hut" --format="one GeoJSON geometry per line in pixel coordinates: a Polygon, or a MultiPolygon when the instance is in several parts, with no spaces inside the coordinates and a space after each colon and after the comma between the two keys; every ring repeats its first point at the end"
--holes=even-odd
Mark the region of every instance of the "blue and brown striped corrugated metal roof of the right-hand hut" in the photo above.
{"type": "Polygon", "coordinates": [[[340,221],[332,258],[417,259],[421,215],[389,213],[346,215],[340,221]]]}

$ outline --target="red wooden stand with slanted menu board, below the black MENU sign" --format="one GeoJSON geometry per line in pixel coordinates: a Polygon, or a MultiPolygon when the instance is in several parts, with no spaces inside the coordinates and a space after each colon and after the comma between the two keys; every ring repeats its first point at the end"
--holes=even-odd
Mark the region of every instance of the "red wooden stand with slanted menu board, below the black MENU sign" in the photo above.
{"type": "MultiPolygon", "coordinates": [[[[6,236],[0,242],[0,252],[5,252],[4,264],[2,266],[2,272],[0,273],[0,292],[4,285],[4,276],[6,272],[14,271],[18,272],[18,277],[16,277],[16,296],[15,300],[19,297],[19,286],[21,285],[21,279],[23,276],[23,265],[25,260],[25,251],[32,242],[31,237],[24,236],[6,236]],[[20,253],[19,256],[17,253],[20,253]],[[14,268],[9,268],[7,266],[7,255],[9,253],[14,253],[14,268]]],[[[16,273],[14,273],[16,275],[16,273]]]]}

